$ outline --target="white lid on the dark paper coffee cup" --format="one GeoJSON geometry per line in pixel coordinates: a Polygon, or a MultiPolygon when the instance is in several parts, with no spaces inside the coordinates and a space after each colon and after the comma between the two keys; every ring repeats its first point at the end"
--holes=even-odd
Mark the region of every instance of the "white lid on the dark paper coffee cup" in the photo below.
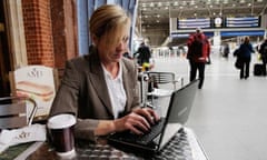
{"type": "Polygon", "coordinates": [[[76,117],[72,114],[57,114],[48,119],[48,128],[50,129],[63,129],[71,127],[76,123],[76,117]]]}

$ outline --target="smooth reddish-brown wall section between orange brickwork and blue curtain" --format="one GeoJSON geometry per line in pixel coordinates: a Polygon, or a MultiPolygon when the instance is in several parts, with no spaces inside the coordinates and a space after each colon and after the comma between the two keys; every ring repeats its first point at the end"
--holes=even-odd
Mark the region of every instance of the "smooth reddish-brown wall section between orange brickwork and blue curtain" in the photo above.
{"type": "Polygon", "coordinates": [[[66,60],[78,56],[76,0],[51,0],[55,66],[62,76],[66,60]]]}

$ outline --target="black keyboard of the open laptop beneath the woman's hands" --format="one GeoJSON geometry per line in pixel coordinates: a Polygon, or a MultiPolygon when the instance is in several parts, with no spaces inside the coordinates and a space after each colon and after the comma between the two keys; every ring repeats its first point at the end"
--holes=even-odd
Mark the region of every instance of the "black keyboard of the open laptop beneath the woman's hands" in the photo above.
{"type": "Polygon", "coordinates": [[[162,130],[165,118],[161,118],[156,124],[151,126],[150,131],[145,134],[134,134],[128,132],[119,132],[112,134],[113,138],[127,142],[137,142],[140,144],[148,144],[151,142],[162,130]]]}

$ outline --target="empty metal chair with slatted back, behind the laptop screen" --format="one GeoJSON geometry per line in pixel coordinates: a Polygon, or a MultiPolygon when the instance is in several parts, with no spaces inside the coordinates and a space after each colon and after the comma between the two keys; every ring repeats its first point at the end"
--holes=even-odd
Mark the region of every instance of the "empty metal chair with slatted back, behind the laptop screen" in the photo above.
{"type": "MultiPolygon", "coordinates": [[[[148,89],[147,96],[150,97],[151,106],[154,106],[154,99],[160,97],[170,97],[172,91],[177,89],[177,83],[180,82],[184,86],[184,78],[176,79],[174,72],[147,72],[150,81],[150,89],[148,89]]],[[[147,103],[149,106],[149,102],[147,103]]]]}

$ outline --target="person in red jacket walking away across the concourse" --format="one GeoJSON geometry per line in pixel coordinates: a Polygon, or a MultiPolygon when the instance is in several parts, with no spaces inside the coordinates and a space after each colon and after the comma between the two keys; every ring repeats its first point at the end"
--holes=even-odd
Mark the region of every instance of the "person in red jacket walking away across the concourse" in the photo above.
{"type": "Polygon", "coordinates": [[[188,53],[187,59],[190,64],[190,81],[196,79],[197,70],[199,84],[198,88],[202,88],[205,79],[205,64],[209,60],[210,43],[207,37],[201,32],[201,29],[197,29],[196,33],[191,34],[187,41],[188,53]]]}

